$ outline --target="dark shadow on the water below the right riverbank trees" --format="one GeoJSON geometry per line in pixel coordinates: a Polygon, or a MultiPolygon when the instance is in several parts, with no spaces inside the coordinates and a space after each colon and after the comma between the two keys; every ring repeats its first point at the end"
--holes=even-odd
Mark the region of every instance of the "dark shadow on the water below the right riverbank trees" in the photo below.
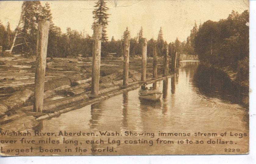
{"type": "Polygon", "coordinates": [[[221,98],[247,108],[249,106],[248,89],[230,81],[225,73],[214,68],[206,67],[203,64],[198,65],[193,82],[198,88],[199,94],[221,98]]]}

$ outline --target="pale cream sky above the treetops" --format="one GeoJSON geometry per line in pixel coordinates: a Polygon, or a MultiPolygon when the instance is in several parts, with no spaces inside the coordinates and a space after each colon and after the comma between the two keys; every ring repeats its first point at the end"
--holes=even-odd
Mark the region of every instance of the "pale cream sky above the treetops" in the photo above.
{"type": "MultiPolygon", "coordinates": [[[[45,4],[46,1],[41,1],[45,4]]],[[[95,1],[48,1],[51,6],[53,23],[63,33],[66,27],[86,31],[92,35],[92,11],[95,1]]],[[[190,30],[200,21],[226,19],[235,10],[239,13],[249,9],[248,0],[108,0],[110,21],[107,26],[108,38],[121,39],[128,27],[131,37],[136,37],[143,27],[143,37],[157,39],[160,27],[164,39],[169,43],[176,37],[183,41],[190,30]]],[[[0,20],[3,25],[10,22],[14,30],[20,19],[23,1],[0,1],[0,20]]]]}

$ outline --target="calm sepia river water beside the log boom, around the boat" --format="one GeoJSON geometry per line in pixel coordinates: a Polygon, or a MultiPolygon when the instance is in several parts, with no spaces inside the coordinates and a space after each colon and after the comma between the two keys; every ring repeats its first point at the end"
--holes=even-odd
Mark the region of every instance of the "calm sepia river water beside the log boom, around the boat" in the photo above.
{"type": "MultiPolygon", "coordinates": [[[[200,62],[180,62],[180,65],[181,67],[173,77],[156,83],[163,93],[159,101],[150,102],[140,99],[139,89],[136,89],[105,101],[69,111],[59,117],[44,120],[31,131],[55,132],[57,135],[50,136],[51,140],[59,140],[60,144],[45,144],[43,148],[62,148],[62,152],[53,153],[58,155],[238,153],[225,152],[225,149],[235,149],[235,151],[239,149],[239,152],[248,152],[248,91],[232,84],[225,74],[206,68],[200,62]],[[59,131],[93,132],[95,135],[58,136],[59,131]],[[101,136],[99,131],[117,132],[119,136],[101,136]],[[148,136],[134,136],[143,132],[148,133],[148,136]],[[192,135],[159,136],[159,132],[191,133],[192,135]],[[194,133],[198,132],[216,133],[217,136],[194,136],[194,133]],[[226,137],[220,136],[221,133],[225,132],[227,132],[226,137]],[[230,136],[230,132],[232,134],[247,133],[247,136],[242,138],[230,136]],[[128,136],[126,136],[127,133],[128,136]],[[68,141],[78,140],[78,145],[63,143],[64,137],[68,141]],[[104,144],[86,143],[86,140],[96,141],[100,138],[104,144]],[[108,143],[108,139],[110,143],[108,143]],[[193,143],[187,144],[186,139],[193,143]],[[216,141],[216,139],[229,142],[226,144],[207,143],[209,139],[211,142],[216,141]],[[160,140],[162,140],[161,143],[159,143],[160,140]],[[173,143],[164,143],[164,140],[173,143]],[[177,144],[178,140],[183,140],[184,143],[177,144]],[[196,140],[204,143],[196,144],[196,140]],[[233,144],[230,144],[230,141],[233,141],[233,144]],[[87,149],[87,152],[75,152],[74,148],[76,147],[87,149]],[[108,152],[105,152],[107,150],[104,152],[91,151],[91,149],[97,150],[107,147],[108,152]],[[65,152],[66,148],[72,149],[72,152],[65,152]],[[113,152],[109,152],[112,149],[113,152]]],[[[148,84],[148,87],[151,86],[152,84],[148,84]]],[[[36,140],[47,140],[48,138],[45,136],[34,137],[36,140]]],[[[35,149],[38,147],[39,145],[35,145],[35,149]]],[[[34,155],[39,154],[34,153],[34,155]]]]}

